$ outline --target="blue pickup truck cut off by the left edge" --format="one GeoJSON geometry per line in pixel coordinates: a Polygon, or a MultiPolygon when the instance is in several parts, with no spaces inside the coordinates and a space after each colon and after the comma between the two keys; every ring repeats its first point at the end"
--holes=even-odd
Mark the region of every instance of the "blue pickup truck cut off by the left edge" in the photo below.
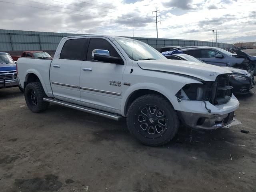
{"type": "Polygon", "coordinates": [[[0,88],[18,86],[16,64],[8,53],[0,52],[0,88]]]}

